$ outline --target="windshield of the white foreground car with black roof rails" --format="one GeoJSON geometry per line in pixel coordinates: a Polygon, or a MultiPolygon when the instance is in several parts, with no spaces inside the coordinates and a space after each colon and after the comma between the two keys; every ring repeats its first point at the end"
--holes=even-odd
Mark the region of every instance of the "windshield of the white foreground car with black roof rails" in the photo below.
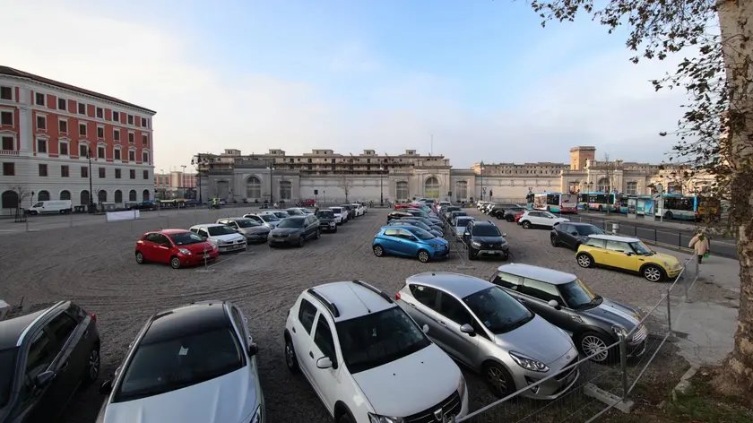
{"type": "Polygon", "coordinates": [[[336,324],[345,365],[351,374],[409,356],[431,345],[399,306],[336,324]]]}

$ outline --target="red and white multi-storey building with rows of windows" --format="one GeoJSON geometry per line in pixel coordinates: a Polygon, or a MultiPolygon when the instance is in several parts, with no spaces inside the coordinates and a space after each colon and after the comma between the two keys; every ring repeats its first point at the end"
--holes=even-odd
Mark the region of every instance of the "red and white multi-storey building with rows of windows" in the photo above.
{"type": "Polygon", "coordinates": [[[0,212],[44,200],[151,199],[155,114],[0,66],[0,212]]]}

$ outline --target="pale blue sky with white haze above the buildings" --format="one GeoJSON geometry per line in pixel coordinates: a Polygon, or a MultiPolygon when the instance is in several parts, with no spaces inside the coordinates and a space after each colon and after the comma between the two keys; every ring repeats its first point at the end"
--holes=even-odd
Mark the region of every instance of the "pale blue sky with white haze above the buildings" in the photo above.
{"type": "Polygon", "coordinates": [[[6,30],[41,28],[0,39],[4,65],[158,111],[158,169],[224,148],[428,152],[432,134],[456,167],[567,161],[576,145],[656,162],[681,114],[678,92],[647,82],[671,64],[632,65],[625,34],[586,15],[541,28],[525,2],[2,5],[6,30]],[[78,24],[61,51],[49,39],[64,19],[78,24]]]}

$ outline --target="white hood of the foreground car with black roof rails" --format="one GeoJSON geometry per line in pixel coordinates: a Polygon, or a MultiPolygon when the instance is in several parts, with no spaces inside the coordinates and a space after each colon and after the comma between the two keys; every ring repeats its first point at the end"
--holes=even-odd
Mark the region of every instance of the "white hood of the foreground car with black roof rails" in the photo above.
{"type": "Polygon", "coordinates": [[[376,414],[392,417],[410,416],[444,401],[457,390],[461,377],[460,368],[434,343],[353,375],[376,414]]]}

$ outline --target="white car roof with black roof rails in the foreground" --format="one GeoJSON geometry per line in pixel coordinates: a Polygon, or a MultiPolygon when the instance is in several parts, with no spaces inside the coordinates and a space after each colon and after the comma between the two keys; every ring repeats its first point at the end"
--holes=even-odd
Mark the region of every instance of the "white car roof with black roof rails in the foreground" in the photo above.
{"type": "Polygon", "coordinates": [[[313,289],[337,307],[340,315],[333,317],[335,322],[377,313],[395,306],[394,302],[387,301],[371,289],[352,281],[325,283],[313,289]]]}

